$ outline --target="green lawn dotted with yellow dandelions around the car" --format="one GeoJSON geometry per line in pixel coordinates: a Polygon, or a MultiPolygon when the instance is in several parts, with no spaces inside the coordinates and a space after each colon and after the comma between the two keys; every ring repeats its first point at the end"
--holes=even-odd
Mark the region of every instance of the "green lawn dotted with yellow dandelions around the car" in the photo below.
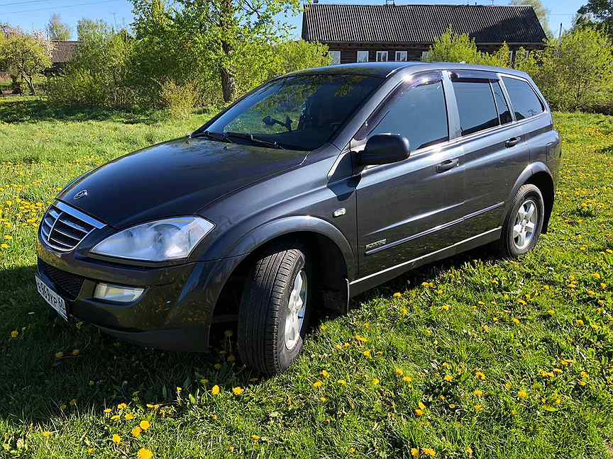
{"type": "Polygon", "coordinates": [[[612,117],[556,115],[563,171],[536,251],[476,250],[397,278],[262,380],[233,361],[233,338],[204,355],[123,344],[50,319],[33,284],[36,225],[58,188],[206,116],[0,101],[0,457],[610,457],[612,117]]]}

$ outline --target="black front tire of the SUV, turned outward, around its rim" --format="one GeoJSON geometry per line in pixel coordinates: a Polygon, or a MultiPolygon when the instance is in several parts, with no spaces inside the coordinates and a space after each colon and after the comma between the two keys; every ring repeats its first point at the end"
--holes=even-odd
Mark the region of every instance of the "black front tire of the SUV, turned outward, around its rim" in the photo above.
{"type": "Polygon", "coordinates": [[[275,375],[296,360],[309,326],[310,279],[306,250],[300,244],[275,244],[255,262],[245,282],[238,312],[238,353],[243,363],[261,373],[275,375]],[[293,322],[295,327],[290,327],[294,334],[288,348],[285,327],[297,276],[306,276],[304,319],[302,325],[293,322]],[[295,333],[297,329],[299,334],[295,333]]]}

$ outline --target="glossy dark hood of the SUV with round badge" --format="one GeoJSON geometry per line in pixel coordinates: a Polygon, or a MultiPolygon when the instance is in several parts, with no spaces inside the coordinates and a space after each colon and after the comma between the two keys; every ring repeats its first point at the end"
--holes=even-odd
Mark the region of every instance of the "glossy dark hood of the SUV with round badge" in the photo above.
{"type": "Polygon", "coordinates": [[[58,199],[107,225],[194,215],[216,199],[298,166],[306,152],[182,138],[115,159],[58,199]],[[79,191],[87,190],[86,193],[79,191]],[[79,193],[81,198],[75,199],[79,193]]]}

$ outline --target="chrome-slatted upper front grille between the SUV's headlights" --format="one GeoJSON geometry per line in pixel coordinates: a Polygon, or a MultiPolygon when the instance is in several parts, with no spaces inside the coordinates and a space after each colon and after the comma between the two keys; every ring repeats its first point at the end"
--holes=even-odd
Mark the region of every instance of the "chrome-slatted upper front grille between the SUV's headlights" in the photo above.
{"type": "Polygon", "coordinates": [[[50,205],[40,223],[40,236],[54,249],[71,251],[87,234],[101,227],[104,224],[57,201],[50,205]]]}

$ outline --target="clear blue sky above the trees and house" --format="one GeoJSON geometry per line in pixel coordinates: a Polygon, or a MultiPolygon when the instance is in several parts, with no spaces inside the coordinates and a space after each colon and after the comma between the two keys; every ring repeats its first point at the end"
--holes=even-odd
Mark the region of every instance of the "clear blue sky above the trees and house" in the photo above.
{"type": "MultiPolygon", "coordinates": [[[[382,4],[384,0],[320,0],[322,3],[360,3],[382,4]]],[[[557,34],[560,23],[563,28],[569,28],[574,13],[585,4],[587,0],[543,0],[543,4],[551,13],[549,25],[557,34]]],[[[466,0],[397,0],[397,4],[465,4],[466,0]]],[[[470,0],[474,4],[475,0],[470,0]]],[[[507,0],[479,0],[479,4],[507,4],[507,0]]],[[[42,30],[48,23],[51,14],[58,13],[62,21],[68,23],[73,29],[73,38],[76,38],[77,21],[80,18],[104,19],[104,21],[121,27],[129,26],[132,21],[132,4],[128,0],[0,0],[0,22],[8,22],[13,26],[20,26],[24,30],[42,30]]],[[[294,35],[300,34],[302,18],[300,16],[287,18],[295,27],[294,35]]]]}

